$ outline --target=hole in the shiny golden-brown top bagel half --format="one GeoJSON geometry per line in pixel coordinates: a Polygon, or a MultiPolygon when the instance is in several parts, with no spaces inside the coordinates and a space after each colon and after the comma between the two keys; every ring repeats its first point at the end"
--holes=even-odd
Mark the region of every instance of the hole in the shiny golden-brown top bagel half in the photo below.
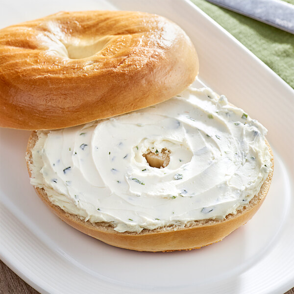
{"type": "Polygon", "coordinates": [[[86,40],[74,40],[72,43],[64,44],[64,46],[67,49],[70,59],[83,59],[93,56],[103,50],[108,42],[108,38],[100,38],[94,43],[92,41],[92,44],[89,44],[91,42],[86,40]]]}

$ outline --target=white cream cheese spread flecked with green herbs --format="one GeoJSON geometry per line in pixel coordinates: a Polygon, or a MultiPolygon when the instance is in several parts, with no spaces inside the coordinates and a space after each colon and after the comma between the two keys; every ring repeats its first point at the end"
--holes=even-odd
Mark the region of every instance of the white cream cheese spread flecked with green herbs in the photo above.
{"type": "Polygon", "coordinates": [[[267,130],[208,88],[110,119],[38,132],[31,184],[84,221],[140,232],[222,220],[271,170],[267,130]],[[144,153],[171,151],[153,168],[144,153]]]}

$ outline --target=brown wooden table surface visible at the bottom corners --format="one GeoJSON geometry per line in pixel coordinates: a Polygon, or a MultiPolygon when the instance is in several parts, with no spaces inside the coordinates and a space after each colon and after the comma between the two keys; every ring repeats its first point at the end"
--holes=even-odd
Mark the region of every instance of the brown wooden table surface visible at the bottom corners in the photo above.
{"type": "MultiPolygon", "coordinates": [[[[0,293],[39,294],[0,260],[0,293]]],[[[294,288],[285,294],[294,294],[294,288]]]]}

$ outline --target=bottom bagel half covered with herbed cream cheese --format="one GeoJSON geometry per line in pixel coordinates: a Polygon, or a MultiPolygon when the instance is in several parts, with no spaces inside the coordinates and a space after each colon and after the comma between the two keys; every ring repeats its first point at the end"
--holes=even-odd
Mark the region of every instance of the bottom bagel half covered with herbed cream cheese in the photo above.
{"type": "MultiPolygon", "coordinates": [[[[265,134],[266,129],[260,123],[250,119],[242,109],[229,104],[225,97],[219,97],[209,89],[190,88],[178,97],[157,104],[155,107],[151,106],[117,118],[71,129],[32,132],[27,145],[27,168],[31,184],[34,185],[42,201],[61,220],[79,231],[107,244],[131,250],[154,252],[190,250],[221,241],[250,220],[259,209],[269,191],[273,172],[272,151],[264,137],[265,134]],[[162,117],[157,118],[156,115],[162,117]],[[140,123],[141,121],[143,123],[140,123]],[[119,125],[121,128],[116,130],[115,127],[119,125]],[[182,129],[178,128],[180,125],[182,129]],[[90,128],[94,128],[95,131],[90,133],[90,128]],[[109,137],[113,138],[111,144],[110,141],[104,144],[97,139],[104,134],[103,128],[109,137]],[[122,134],[123,129],[125,134],[122,134]],[[217,135],[214,135],[215,131],[217,135]],[[91,135],[88,139],[86,132],[91,135]],[[180,138],[181,132],[184,134],[183,138],[180,138]],[[196,135],[198,141],[195,141],[196,135]],[[122,144],[114,144],[115,140],[121,140],[120,136],[126,141],[122,139],[122,144]],[[132,139],[133,143],[128,145],[128,140],[132,136],[135,139],[132,139]],[[162,136],[163,139],[161,137],[158,139],[158,136],[162,136]],[[238,139],[238,136],[241,139],[238,139]],[[51,138],[50,141],[48,138],[51,138]],[[58,140],[61,140],[61,145],[58,140]],[[187,140],[188,143],[194,142],[188,144],[192,146],[191,148],[188,145],[185,147],[187,140]],[[81,142],[85,143],[80,144],[81,142]],[[99,146],[95,146],[95,142],[98,142],[99,146]],[[139,143],[135,146],[134,142],[139,143]],[[123,149],[123,146],[126,149],[123,149]],[[90,153],[84,153],[86,150],[90,153]],[[109,156],[108,150],[111,150],[109,156]],[[125,150],[129,150],[129,153],[125,150]],[[98,152],[98,155],[95,155],[95,152],[98,152]],[[126,155],[123,156],[125,153],[126,155]],[[95,198],[91,198],[93,201],[88,203],[87,200],[90,198],[85,198],[78,190],[83,187],[87,190],[85,194],[90,193],[89,186],[83,186],[85,178],[89,183],[94,181],[93,185],[100,186],[99,174],[97,173],[96,176],[92,170],[89,174],[79,177],[74,177],[75,175],[72,174],[72,178],[67,178],[67,174],[74,172],[76,167],[76,174],[88,170],[82,165],[89,158],[89,154],[94,158],[97,169],[101,170],[99,174],[103,181],[110,183],[111,189],[119,185],[115,184],[116,181],[112,181],[111,172],[114,174],[114,179],[120,179],[118,183],[125,179],[130,185],[130,192],[122,198],[123,200],[117,198],[113,198],[112,202],[108,200],[113,194],[123,193],[123,186],[113,188],[117,190],[111,190],[110,194],[107,194],[107,191],[105,194],[103,187],[95,187],[101,192],[96,193],[95,198]],[[211,160],[207,160],[209,156],[205,155],[205,157],[203,154],[208,154],[211,160]],[[62,159],[59,160],[60,157],[57,155],[62,156],[62,159]],[[77,160],[75,155],[81,157],[77,160]],[[182,159],[178,161],[179,155],[182,159]],[[98,160],[97,156],[103,161],[98,160]],[[115,159],[118,157],[122,164],[115,159]],[[199,160],[196,161],[196,158],[199,160]],[[129,161],[124,163],[125,160],[129,161]],[[59,162],[65,166],[57,168],[59,162]],[[69,165],[66,162],[71,162],[71,166],[66,167],[69,165]],[[116,167],[113,165],[114,162],[119,168],[110,169],[112,166],[116,167]],[[123,177],[119,177],[123,164],[126,172],[123,173],[123,177]],[[137,167],[139,179],[135,177],[137,167]],[[232,167],[235,167],[234,172],[231,170],[232,167]],[[222,170],[223,168],[225,170],[222,170]],[[145,176],[146,169],[149,170],[147,172],[150,178],[145,176]],[[231,175],[228,178],[229,173],[231,175]],[[242,178],[243,173],[245,173],[244,178],[242,178]],[[93,179],[94,175],[95,179],[93,179]],[[49,181],[45,181],[46,177],[49,181]],[[51,180],[51,177],[56,178],[51,180]],[[168,180],[162,180],[164,177],[168,180]],[[80,182],[73,187],[74,185],[68,183],[64,185],[65,179],[69,179],[70,181],[66,181],[69,183],[74,179],[80,182]],[[163,185],[148,188],[158,179],[163,181],[163,185]],[[65,190],[63,186],[58,186],[59,181],[66,187],[65,190]],[[136,186],[131,187],[132,183],[136,186]],[[188,192],[184,190],[183,194],[177,194],[173,188],[177,188],[178,183],[190,185],[191,191],[187,189],[188,192]],[[248,186],[244,188],[246,185],[248,186]],[[170,191],[163,191],[166,188],[174,194],[169,195],[170,191]],[[141,195],[140,191],[143,191],[141,195]],[[228,195],[227,191],[232,195],[228,195]],[[201,196],[200,199],[197,195],[201,196]],[[203,200],[204,195],[207,200],[203,200]],[[141,196],[139,197],[141,200],[137,200],[139,199],[137,196],[141,196]],[[84,201],[84,206],[79,201],[84,201]],[[128,205],[132,201],[135,201],[134,207],[132,204],[128,205]],[[204,204],[199,204],[199,201],[207,201],[205,202],[207,205],[201,209],[199,207],[203,207],[201,205],[204,204]],[[98,204],[101,206],[97,208],[97,212],[95,205],[98,204]],[[219,209],[221,205],[225,207],[223,211],[219,209]],[[187,213],[185,207],[189,210],[187,213]],[[179,212],[173,216],[171,211],[174,208],[179,212]],[[213,210],[216,211],[215,215],[213,210]],[[85,214],[85,211],[89,211],[89,214],[85,214]],[[156,213],[161,213],[162,219],[155,218],[156,213]],[[95,214],[97,215],[94,216],[95,214]],[[193,219],[194,216],[201,218],[193,219]]],[[[103,140],[107,141],[107,136],[104,136],[103,140]]]]}

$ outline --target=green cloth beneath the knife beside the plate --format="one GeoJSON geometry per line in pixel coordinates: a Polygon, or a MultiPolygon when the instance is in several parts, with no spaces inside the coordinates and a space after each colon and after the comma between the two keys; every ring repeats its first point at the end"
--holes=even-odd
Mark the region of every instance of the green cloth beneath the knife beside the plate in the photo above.
{"type": "MultiPolygon", "coordinates": [[[[294,88],[294,35],[205,0],[191,0],[294,88]]],[[[294,4],[294,0],[287,0],[294,4]]]]}

